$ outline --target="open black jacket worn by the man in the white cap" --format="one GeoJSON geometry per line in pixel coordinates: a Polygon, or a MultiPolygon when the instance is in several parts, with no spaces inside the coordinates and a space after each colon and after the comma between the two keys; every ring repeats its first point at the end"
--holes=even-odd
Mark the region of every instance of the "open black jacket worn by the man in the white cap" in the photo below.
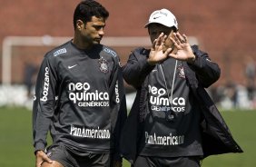
{"type": "MultiPolygon", "coordinates": [[[[196,55],[195,62],[193,64],[184,63],[183,65],[186,81],[190,85],[202,112],[203,158],[212,154],[242,152],[240,146],[233,140],[221,113],[204,89],[219,79],[221,70],[218,64],[214,64],[208,54],[200,51],[196,45],[192,46],[192,51],[196,55]]],[[[145,112],[147,102],[146,78],[154,68],[147,63],[149,52],[144,48],[135,49],[127,64],[123,66],[124,80],[132,84],[137,90],[131,112],[124,123],[121,135],[123,157],[132,163],[137,156],[137,143],[141,137],[140,130],[143,129],[141,115],[145,112]]]]}

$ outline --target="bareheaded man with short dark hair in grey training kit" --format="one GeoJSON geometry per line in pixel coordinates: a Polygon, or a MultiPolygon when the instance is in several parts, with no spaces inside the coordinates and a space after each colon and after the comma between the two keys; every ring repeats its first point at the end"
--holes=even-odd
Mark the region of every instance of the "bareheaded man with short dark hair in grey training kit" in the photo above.
{"type": "Polygon", "coordinates": [[[36,167],[122,166],[122,69],[113,49],[100,44],[108,16],[96,1],[81,2],[74,38],[44,55],[33,107],[36,167]],[[46,148],[48,131],[53,143],[46,148]]]}

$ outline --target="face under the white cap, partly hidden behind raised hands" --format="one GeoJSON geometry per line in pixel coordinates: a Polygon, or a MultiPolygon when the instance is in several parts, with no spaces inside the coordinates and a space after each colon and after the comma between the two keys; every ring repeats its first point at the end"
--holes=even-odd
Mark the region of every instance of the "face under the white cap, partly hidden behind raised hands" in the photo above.
{"type": "Polygon", "coordinates": [[[174,45],[170,39],[170,37],[173,37],[173,29],[172,27],[160,25],[160,24],[151,24],[148,27],[149,35],[151,42],[153,44],[153,41],[161,34],[167,35],[167,39],[163,45],[162,51],[165,52],[168,48],[172,48],[174,45]]]}

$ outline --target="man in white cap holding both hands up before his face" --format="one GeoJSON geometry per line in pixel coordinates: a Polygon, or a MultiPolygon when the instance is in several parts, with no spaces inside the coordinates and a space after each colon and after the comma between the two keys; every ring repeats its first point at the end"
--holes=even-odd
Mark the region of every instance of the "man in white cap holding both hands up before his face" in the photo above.
{"type": "Polygon", "coordinates": [[[242,152],[204,88],[218,64],[179,34],[174,15],[154,11],[145,25],[152,48],[139,47],[123,66],[137,94],[123,128],[121,150],[133,167],[199,167],[212,154],[242,152]]]}

